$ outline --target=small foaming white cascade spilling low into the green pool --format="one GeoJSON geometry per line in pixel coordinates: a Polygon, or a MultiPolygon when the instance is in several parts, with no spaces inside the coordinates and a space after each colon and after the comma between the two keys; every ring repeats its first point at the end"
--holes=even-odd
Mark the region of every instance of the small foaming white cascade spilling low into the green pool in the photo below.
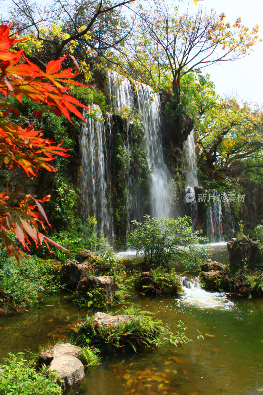
{"type": "Polygon", "coordinates": [[[207,292],[201,288],[199,277],[181,277],[184,295],[178,303],[190,305],[200,309],[229,310],[235,305],[223,292],[207,292]]]}

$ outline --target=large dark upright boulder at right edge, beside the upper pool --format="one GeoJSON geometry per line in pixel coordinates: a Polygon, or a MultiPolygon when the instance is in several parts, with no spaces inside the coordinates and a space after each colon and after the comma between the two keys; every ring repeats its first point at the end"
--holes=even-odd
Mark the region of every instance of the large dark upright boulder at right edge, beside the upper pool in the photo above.
{"type": "Polygon", "coordinates": [[[263,246],[258,241],[243,235],[227,243],[227,249],[231,270],[263,269],[263,246]]]}

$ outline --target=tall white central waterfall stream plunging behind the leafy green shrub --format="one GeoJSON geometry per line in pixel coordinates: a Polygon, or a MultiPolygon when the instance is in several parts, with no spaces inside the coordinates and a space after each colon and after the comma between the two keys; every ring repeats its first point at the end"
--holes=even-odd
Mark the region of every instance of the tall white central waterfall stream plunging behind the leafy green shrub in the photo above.
{"type": "Polygon", "coordinates": [[[151,215],[170,217],[171,192],[169,181],[172,179],[165,164],[160,133],[161,104],[160,96],[150,86],[139,84],[137,88],[138,110],[142,115],[146,137],[146,153],[151,177],[151,215]]]}

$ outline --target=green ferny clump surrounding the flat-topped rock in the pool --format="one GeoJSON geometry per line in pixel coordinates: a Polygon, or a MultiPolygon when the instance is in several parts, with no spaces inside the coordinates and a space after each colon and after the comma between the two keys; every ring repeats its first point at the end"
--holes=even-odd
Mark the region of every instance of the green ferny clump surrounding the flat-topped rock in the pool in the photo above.
{"type": "Polygon", "coordinates": [[[98,345],[100,349],[110,346],[113,349],[127,347],[135,352],[149,348],[160,348],[167,345],[178,346],[188,343],[186,327],[180,322],[175,333],[168,325],[149,316],[150,312],[134,308],[125,308],[123,314],[132,315],[131,321],[121,322],[117,326],[97,326],[94,317],[87,317],[86,321],[77,325],[78,342],[80,345],[90,343],[98,345]]]}

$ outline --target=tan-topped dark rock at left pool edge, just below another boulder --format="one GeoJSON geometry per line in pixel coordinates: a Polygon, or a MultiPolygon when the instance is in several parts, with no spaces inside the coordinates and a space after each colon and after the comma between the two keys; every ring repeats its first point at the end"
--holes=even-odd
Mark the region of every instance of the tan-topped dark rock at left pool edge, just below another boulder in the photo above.
{"type": "Polygon", "coordinates": [[[117,290],[115,278],[113,276],[87,276],[79,281],[77,290],[86,293],[90,289],[99,289],[106,296],[114,296],[117,290]]]}

